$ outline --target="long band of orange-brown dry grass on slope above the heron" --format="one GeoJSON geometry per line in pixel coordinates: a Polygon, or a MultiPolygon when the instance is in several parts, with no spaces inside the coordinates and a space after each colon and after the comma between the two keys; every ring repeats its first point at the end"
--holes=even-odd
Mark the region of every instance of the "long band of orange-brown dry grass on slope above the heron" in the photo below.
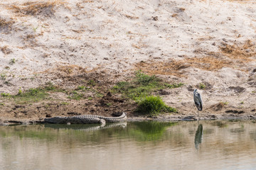
{"type": "Polygon", "coordinates": [[[135,64],[135,69],[141,69],[147,74],[174,75],[176,77],[184,77],[188,67],[207,70],[210,72],[218,71],[223,67],[242,69],[247,62],[255,61],[252,57],[256,56],[256,45],[247,40],[244,45],[228,45],[223,44],[220,52],[207,52],[203,50],[195,50],[194,52],[201,57],[183,57],[183,60],[167,60],[167,61],[142,61],[135,64]]]}

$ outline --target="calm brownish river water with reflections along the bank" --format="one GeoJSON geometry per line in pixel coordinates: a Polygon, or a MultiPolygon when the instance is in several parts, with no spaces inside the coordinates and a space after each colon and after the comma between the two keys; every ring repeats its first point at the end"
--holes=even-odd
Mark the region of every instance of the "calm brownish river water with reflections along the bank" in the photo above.
{"type": "Polygon", "coordinates": [[[1,126],[0,169],[256,169],[256,123],[1,126]]]}

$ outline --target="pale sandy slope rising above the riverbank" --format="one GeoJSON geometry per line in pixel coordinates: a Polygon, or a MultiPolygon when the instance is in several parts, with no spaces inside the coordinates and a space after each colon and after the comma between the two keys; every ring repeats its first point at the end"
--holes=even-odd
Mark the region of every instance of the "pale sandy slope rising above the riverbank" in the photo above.
{"type": "Polygon", "coordinates": [[[203,114],[254,115],[255,39],[255,1],[2,0],[0,91],[142,69],[186,84],[163,96],[181,114],[196,113],[192,89],[205,84],[203,114]]]}

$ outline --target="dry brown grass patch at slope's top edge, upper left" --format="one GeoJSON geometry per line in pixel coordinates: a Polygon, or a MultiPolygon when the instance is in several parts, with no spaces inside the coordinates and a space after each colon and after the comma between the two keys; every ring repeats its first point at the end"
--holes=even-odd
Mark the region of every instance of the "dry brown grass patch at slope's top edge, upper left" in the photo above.
{"type": "Polygon", "coordinates": [[[60,4],[64,4],[63,1],[29,1],[21,6],[12,5],[10,8],[14,10],[15,13],[21,15],[31,15],[31,16],[53,16],[55,13],[54,7],[60,4]]]}

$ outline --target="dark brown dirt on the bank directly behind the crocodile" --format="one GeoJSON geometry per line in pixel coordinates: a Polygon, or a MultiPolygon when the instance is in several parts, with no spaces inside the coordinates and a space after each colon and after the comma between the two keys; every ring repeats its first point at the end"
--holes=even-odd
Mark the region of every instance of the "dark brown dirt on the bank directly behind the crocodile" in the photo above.
{"type": "MultiPolygon", "coordinates": [[[[70,92],[48,92],[43,101],[17,103],[13,99],[3,98],[0,115],[4,120],[42,120],[54,116],[71,116],[82,114],[112,116],[113,113],[125,111],[128,116],[135,115],[137,104],[119,94],[111,94],[110,89],[116,80],[105,72],[85,72],[84,69],[71,65],[47,70],[45,75],[50,79],[61,79],[55,84],[60,89],[75,90],[78,86],[87,86],[80,100],[69,99],[70,92]],[[94,82],[90,84],[88,82],[94,82]],[[97,91],[97,93],[95,93],[97,91]]],[[[114,78],[116,78],[115,76],[114,78]]]]}

